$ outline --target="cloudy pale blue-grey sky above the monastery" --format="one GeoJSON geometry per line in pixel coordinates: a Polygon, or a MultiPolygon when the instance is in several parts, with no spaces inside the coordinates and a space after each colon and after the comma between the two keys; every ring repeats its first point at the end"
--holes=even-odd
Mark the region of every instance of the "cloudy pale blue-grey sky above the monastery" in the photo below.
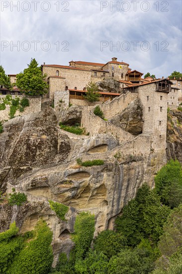
{"type": "Polygon", "coordinates": [[[166,77],[182,72],[181,0],[0,0],[0,64],[6,74],[75,61],[106,63],[166,77]]]}

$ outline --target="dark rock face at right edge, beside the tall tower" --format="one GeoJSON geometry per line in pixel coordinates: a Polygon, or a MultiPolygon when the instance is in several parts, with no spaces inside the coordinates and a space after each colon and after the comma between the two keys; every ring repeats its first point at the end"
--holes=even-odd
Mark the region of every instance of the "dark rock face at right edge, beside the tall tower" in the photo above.
{"type": "Polygon", "coordinates": [[[182,112],[179,110],[168,113],[167,157],[182,162],[182,112]]]}

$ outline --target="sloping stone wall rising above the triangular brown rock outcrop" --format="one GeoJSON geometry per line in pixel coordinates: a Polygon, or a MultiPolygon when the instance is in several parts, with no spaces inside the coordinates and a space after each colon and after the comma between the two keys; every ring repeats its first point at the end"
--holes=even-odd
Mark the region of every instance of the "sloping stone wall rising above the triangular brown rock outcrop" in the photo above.
{"type": "Polygon", "coordinates": [[[114,98],[111,102],[105,102],[103,105],[101,105],[101,110],[104,113],[104,117],[106,119],[112,118],[113,116],[124,110],[128,106],[128,104],[134,101],[137,97],[137,93],[128,92],[114,98]]]}

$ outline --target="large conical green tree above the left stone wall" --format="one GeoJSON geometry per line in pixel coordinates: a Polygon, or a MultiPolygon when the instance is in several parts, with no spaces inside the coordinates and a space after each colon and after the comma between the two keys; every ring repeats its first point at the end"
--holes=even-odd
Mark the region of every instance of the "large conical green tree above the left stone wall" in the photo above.
{"type": "Polygon", "coordinates": [[[46,94],[48,85],[45,82],[46,74],[42,75],[41,67],[35,59],[31,59],[28,68],[16,75],[16,86],[20,92],[27,95],[46,94]]]}

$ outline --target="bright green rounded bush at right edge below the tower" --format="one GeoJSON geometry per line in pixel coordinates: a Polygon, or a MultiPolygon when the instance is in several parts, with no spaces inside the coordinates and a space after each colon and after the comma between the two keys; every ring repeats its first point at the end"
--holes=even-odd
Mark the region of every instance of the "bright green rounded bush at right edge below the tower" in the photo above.
{"type": "Polygon", "coordinates": [[[182,166],[178,160],[170,160],[159,170],[155,187],[162,203],[172,208],[182,203],[182,166]]]}

